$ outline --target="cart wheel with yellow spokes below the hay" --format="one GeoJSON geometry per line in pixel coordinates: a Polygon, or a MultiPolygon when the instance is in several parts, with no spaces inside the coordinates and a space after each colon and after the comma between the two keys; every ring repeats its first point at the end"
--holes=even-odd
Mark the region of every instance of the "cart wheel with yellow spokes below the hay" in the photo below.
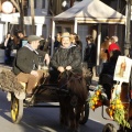
{"type": "Polygon", "coordinates": [[[15,98],[12,95],[11,98],[11,119],[13,123],[19,123],[23,116],[23,100],[15,98]]]}

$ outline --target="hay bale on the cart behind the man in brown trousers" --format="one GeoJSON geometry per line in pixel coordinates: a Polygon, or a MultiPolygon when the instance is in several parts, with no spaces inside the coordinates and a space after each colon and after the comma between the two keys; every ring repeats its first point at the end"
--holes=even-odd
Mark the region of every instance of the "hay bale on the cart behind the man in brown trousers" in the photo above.
{"type": "Polygon", "coordinates": [[[15,75],[11,70],[2,70],[0,73],[0,89],[3,91],[22,92],[23,86],[18,81],[15,75]]]}

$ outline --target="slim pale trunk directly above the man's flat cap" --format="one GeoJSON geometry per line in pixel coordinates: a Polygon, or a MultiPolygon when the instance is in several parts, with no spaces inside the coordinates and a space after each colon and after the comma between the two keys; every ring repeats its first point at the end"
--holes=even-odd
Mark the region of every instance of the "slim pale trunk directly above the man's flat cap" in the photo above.
{"type": "Polygon", "coordinates": [[[31,18],[32,18],[32,34],[35,34],[35,22],[34,22],[34,0],[31,0],[31,18]]]}

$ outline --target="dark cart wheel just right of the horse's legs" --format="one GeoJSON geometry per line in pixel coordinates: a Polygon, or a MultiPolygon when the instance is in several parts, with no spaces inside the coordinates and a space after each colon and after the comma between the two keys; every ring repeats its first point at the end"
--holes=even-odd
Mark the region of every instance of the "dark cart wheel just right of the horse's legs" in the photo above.
{"type": "Polygon", "coordinates": [[[85,124],[88,121],[88,117],[89,117],[89,103],[86,101],[80,113],[79,123],[85,124]]]}

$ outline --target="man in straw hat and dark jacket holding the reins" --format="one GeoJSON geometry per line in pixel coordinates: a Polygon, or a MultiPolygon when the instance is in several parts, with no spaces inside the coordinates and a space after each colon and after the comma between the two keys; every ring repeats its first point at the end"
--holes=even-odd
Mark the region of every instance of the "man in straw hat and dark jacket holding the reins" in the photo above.
{"type": "MultiPolygon", "coordinates": [[[[81,53],[76,45],[70,43],[68,32],[62,34],[62,45],[54,53],[51,66],[57,72],[56,74],[70,69],[74,73],[81,73],[81,53]]],[[[55,74],[53,76],[55,77],[55,74]]]]}

